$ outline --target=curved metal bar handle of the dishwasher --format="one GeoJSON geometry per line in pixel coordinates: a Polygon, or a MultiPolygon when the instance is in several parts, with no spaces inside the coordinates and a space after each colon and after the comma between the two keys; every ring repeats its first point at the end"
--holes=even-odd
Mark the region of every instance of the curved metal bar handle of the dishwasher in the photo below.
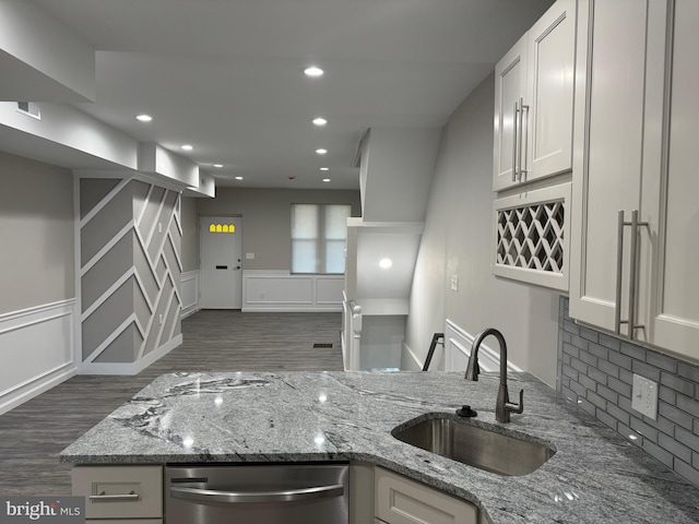
{"type": "Polygon", "coordinates": [[[199,502],[225,502],[230,504],[250,502],[294,502],[344,495],[342,484],[318,486],[311,488],[289,489],[282,491],[218,491],[214,489],[199,489],[170,487],[170,497],[176,499],[196,500],[199,502]]]}

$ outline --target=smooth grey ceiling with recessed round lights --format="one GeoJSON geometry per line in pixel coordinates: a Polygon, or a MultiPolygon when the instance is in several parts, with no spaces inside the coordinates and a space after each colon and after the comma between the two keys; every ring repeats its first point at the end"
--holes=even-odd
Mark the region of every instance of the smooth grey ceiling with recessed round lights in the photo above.
{"type": "Polygon", "coordinates": [[[76,107],[190,158],[218,187],[298,189],[358,189],[364,130],[443,126],[552,3],[33,1],[97,51],[96,102],[76,107]],[[310,64],[325,73],[307,78],[310,64]]]}

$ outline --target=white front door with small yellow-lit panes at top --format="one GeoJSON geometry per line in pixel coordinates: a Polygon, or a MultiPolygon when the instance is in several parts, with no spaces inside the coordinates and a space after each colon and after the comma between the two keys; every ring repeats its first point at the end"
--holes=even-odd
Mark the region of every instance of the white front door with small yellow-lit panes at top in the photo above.
{"type": "Polygon", "coordinates": [[[200,297],[202,309],[242,307],[242,218],[199,219],[200,297]]]}

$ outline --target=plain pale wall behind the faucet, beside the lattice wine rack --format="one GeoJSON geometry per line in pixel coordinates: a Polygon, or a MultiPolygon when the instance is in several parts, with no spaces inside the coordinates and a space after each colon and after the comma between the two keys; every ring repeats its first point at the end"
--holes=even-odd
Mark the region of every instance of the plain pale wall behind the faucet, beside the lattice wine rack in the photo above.
{"type": "MultiPolygon", "coordinates": [[[[442,132],[405,343],[422,361],[447,319],[471,335],[496,327],[508,342],[509,360],[555,386],[558,296],[490,272],[494,93],[489,75],[442,132]],[[459,278],[458,291],[451,290],[452,275],[459,278]]],[[[411,360],[403,358],[403,366],[411,360]]]]}

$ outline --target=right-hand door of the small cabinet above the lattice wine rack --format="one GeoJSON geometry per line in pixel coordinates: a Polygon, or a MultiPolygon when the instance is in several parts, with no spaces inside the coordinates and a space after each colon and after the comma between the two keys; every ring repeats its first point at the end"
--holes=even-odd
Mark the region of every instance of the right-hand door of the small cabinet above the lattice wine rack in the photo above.
{"type": "Polygon", "coordinates": [[[558,0],[528,34],[522,181],[572,168],[576,1],[558,0]]]}

